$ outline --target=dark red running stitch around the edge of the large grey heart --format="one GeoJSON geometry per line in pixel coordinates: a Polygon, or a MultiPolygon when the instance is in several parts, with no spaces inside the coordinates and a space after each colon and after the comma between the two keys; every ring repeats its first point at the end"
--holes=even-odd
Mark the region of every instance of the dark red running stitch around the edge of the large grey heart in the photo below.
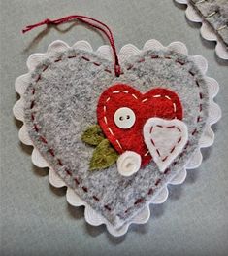
{"type": "MultiPolygon", "coordinates": [[[[68,58],[73,58],[73,57],[77,57],[77,55],[68,56],[68,58]]],[[[87,58],[87,57],[84,57],[84,56],[83,56],[83,57],[81,57],[81,58],[84,59],[85,61],[89,61],[90,63],[94,64],[95,66],[100,66],[100,65],[101,65],[100,63],[90,61],[90,59],[87,58]],[[85,58],[86,58],[86,59],[85,59],[85,58]]],[[[151,58],[162,58],[162,57],[160,57],[160,56],[158,56],[158,55],[151,55],[151,58]]],[[[164,58],[167,58],[167,57],[164,57],[164,58]]],[[[170,59],[170,58],[169,58],[169,59],[170,59]]],[[[58,59],[54,60],[54,62],[59,62],[59,61],[62,61],[62,58],[58,58],[58,59]]],[[[175,62],[178,63],[178,64],[181,65],[181,66],[185,64],[185,63],[182,63],[182,62],[179,61],[179,60],[175,60],[175,62]]],[[[130,70],[130,69],[133,68],[133,67],[134,67],[134,65],[131,65],[131,66],[129,66],[129,67],[127,68],[127,70],[130,70]]],[[[49,68],[49,65],[44,65],[44,68],[43,68],[43,70],[42,70],[42,73],[44,73],[48,68],[49,68]]],[[[107,68],[104,69],[104,71],[109,72],[109,73],[112,73],[112,71],[110,71],[110,70],[107,69],[107,68]]],[[[192,73],[191,71],[188,71],[188,73],[189,73],[192,77],[194,77],[194,75],[195,75],[195,74],[192,73]]],[[[121,73],[121,74],[123,74],[123,73],[121,73]]],[[[42,79],[42,76],[41,76],[41,74],[39,74],[38,77],[35,79],[35,82],[38,83],[41,79],[42,79]]],[[[197,80],[195,80],[195,83],[196,83],[197,87],[200,88],[200,85],[199,85],[199,83],[198,83],[197,80]]],[[[36,89],[35,89],[35,88],[32,88],[31,94],[32,94],[32,95],[35,95],[35,92],[36,92],[36,89]]],[[[199,92],[199,98],[200,98],[200,99],[203,98],[203,94],[202,94],[201,91],[199,92]]],[[[32,101],[31,101],[31,105],[30,105],[30,109],[33,109],[34,105],[35,105],[35,101],[32,100],[32,101]]],[[[200,112],[200,113],[202,112],[202,104],[199,105],[199,112],[200,112]]],[[[32,114],[31,114],[31,120],[32,120],[32,123],[33,123],[33,126],[34,126],[35,131],[39,134],[40,128],[39,128],[38,125],[35,123],[35,113],[32,113],[32,114]]],[[[197,117],[197,122],[199,122],[199,121],[200,121],[200,116],[197,117]]],[[[196,133],[197,133],[197,129],[195,128],[195,129],[191,132],[191,134],[192,134],[192,135],[195,135],[196,133]]],[[[42,136],[42,135],[39,134],[39,137],[40,137],[40,140],[41,140],[43,143],[48,144],[48,141],[47,141],[47,139],[46,139],[44,136],[42,136]]],[[[190,145],[190,144],[189,144],[189,141],[188,141],[187,144],[185,145],[185,148],[184,148],[184,149],[186,149],[189,145],[190,145]]],[[[51,148],[49,148],[49,154],[50,154],[53,158],[55,157],[54,150],[51,149],[51,148]]],[[[57,161],[58,165],[63,166],[62,161],[61,161],[60,159],[57,158],[56,161],[57,161]]],[[[173,165],[176,165],[176,164],[177,164],[176,162],[173,163],[173,165]]],[[[72,176],[71,170],[69,170],[69,169],[66,168],[65,171],[66,171],[66,173],[67,173],[69,176],[72,176]]],[[[165,170],[165,172],[164,172],[164,175],[169,174],[169,172],[170,172],[170,168],[167,168],[167,169],[165,170]]],[[[79,181],[79,178],[78,178],[78,177],[73,177],[73,179],[74,179],[74,181],[76,182],[76,185],[80,185],[81,182],[82,182],[82,181],[79,181]]],[[[159,178],[159,179],[155,182],[155,186],[158,186],[158,185],[160,184],[160,182],[161,182],[161,179],[159,178]]],[[[81,190],[83,190],[84,193],[87,193],[87,192],[88,192],[88,188],[87,188],[87,187],[84,187],[84,186],[81,187],[81,190]]],[[[148,189],[147,195],[152,195],[152,194],[153,194],[153,189],[152,189],[152,188],[151,188],[151,189],[148,189]]],[[[93,197],[94,201],[100,201],[99,198],[97,198],[95,195],[93,195],[92,197],[93,197]]],[[[134,206],[136,206],[136,205],[138,205],[139,203],[142,203],[142,202],[144,202],[144,201],[145,201],[145,199],[143,199],[143,198],[138,199],[138,200],[136,200],[136,201],[134,202],[134,205],[133,205],[132,207],[134,207],[134,206]]],[[[109,210],[109,211],[112,210],[112,208],[111,208],[109,205],[104,205],[104,208],[105,208],[106,210],[109,210]]],[[[127,208],[124,212],[127,213],[130,208],[131,208],[131,207],[127,208]]]]}

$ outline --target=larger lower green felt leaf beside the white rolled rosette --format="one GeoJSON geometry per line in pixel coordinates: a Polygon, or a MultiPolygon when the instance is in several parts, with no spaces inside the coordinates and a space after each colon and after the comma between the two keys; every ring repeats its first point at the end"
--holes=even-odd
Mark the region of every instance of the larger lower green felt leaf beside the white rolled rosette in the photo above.
{"type": "Polygon", "coordinates": [[[104,169],[114,165],[118,153],[114,150],[108,139],[103,139],[96,147],[90,162],[90,170],[104,169]]]}

